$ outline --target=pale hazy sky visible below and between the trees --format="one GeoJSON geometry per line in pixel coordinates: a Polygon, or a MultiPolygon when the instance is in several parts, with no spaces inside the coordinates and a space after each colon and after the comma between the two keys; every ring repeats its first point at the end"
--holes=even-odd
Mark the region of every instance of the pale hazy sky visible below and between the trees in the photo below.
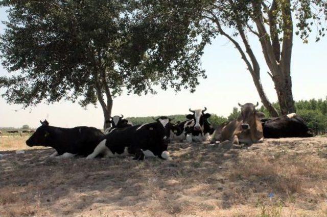
{"type": "MultiPolygon", "coordinates": [[[[7,13],[0,8],[0,20],[7,20],[7,13]]],[[[0,24],[0,34],[5,26],[0,24]]],[[[327,38],[314,42],[312,34],[309,44],[303,44],[294,37],[291,76],[294,100],[325,98],[327,96],[327,38]]],[[[268,99],[273,102],[277,96],[271,78],[266,73],[259,41],[249,35],[250,44],[261,66],[261,78],[268,99]]],[[[158,90],[156,95],[127,95],[113,99],[112,115],[125,117],[144,117],[157,115],[188,114],[189,108],[207,107],[208,113],[228,116],[232,108],[246,102],[256,103],[260,97],[256,92],[250,73],[239,52],[224,37],[217,37],[205,47],[202,68],[207,79],[200,79],[195,93],[188,90],[158,90]]],[[[0,66],[0,76],[8,72],[0,66]]],[[[0,89],[0,93],[4,93],[0,89]]],[[[60,101],[53,104],[38,104],[21,109],[22,105],[8,104],[0,97],[0,126],[21,127],[28,124],[38,127],[39,120],[47,119],[50,125],[59,127],[95,126],[103,127],[103,113],[100,105],[90,105],[86,109],[78,103],[60,101]],[[17,110],[17,111],[16,111],[17,110]]]]}

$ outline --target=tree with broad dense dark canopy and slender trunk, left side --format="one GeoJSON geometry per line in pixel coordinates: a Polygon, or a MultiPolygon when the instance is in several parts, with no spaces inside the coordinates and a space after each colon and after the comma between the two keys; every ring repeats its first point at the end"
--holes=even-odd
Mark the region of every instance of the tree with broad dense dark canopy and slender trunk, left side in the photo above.
{"type": "MultiPolygon", "coordinates": [[[[12,73],[0,77],[8,103],[27,107],[64,99],[85,107],[99,101],[107,128],[113,98],[124,88],[138,95],[155,93],[152,85],[194,91],[197,77],[204,76],[200,69],[188,73],[192,64],[185,60],[178,60],[181,67],[149,58],[154,44],[144,33],[151,26],[132,19],[129,1],[3,0],[0,6],[10,7],[0,38],[3,66],[12,73]]],[[[165,58],[173,62],[175,56],[165,58]]]]}

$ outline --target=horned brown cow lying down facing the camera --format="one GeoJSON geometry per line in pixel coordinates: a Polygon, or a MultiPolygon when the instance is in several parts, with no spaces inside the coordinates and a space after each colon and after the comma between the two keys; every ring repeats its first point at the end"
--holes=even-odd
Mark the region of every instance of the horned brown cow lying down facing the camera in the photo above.
{"type": "MultiPolygon", "coordinates": [[[[236,119],[230,121],[221,129],[219,135],[214,135],[218,141],[224,142],[231,141],[233,144],[246,144],[252,145],[253,143],[263,142],[263,130],[261,119],[265,117],[262,112],[255,110],[256,105],[252,103],[239,103],[241,107],[241,115],[236,119]]],[[[218,133],[218,131],[217,131],[218,133]]]]}

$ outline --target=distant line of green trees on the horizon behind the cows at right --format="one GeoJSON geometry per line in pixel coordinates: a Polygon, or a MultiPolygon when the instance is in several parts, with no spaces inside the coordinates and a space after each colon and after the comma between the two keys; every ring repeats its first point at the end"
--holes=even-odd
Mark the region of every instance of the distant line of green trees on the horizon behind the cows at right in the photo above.
{"type": "MultiPolygon", "coordinates": [[[[273,103],[273,106],[276,108],[277,111],[280,111],[279,104],[277,102],[273,103]]],[[[296,113],[300,115],[307,123],[308,127],[313,131],[315,134],[322,134],[327,132],[327,97],[325,99],[310,99],[310,100],[300,100],[295,102],[296,113]]],[[[259,111],[265,113],[266,117],[270,117],[268,111],[264,106],[259,108],[259,111]]],[[[220,124],[236,119],[240,115],[240,108],[233,107],[232,112],[228,117],[218,116],[216,114],[211,114],[209,118],[209,122],[214,126],[217,127],[220,124]]],[[[176,123],[177,121],[185,121],[185,115],[170,115],[167,116],[169,118],[174,118],[173,122],[176,123]]],[[[134,125],[144,124],[153,122],[153,118],[158,118],[159,116],[155,117],[130,117],[127,118],[131,121],[134,125]]]]}

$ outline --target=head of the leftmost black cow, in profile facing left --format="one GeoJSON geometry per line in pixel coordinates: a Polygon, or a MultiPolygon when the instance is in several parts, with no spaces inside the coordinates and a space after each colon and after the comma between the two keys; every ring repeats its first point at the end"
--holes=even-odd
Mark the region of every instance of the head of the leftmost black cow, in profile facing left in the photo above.
{"type": "Polygon", "coordinates": [[[30,139],[26,141],[26,145],[32,146],[46,146],[51,141],[51,132],[49,128],[49,122],[44,120],[40,121],[41,126],[36,129],[36,131],[32,134],[30,139]]]}

